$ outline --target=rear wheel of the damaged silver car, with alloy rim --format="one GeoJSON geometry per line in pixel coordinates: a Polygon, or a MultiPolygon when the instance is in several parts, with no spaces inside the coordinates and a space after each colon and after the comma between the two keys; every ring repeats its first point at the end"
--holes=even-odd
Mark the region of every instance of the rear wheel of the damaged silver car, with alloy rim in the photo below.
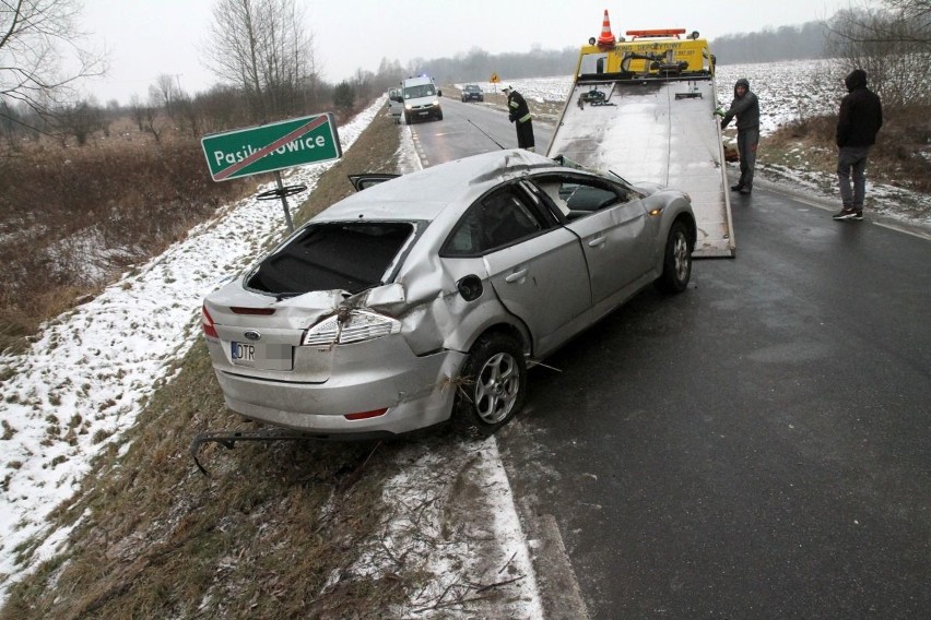
{"type": "Polygon", "coordinates": [[[488,437],[523,406],[527,362],[520,344],[506,334],[479,338],[457,385],[452,421],[469,434],[488,437]]]}

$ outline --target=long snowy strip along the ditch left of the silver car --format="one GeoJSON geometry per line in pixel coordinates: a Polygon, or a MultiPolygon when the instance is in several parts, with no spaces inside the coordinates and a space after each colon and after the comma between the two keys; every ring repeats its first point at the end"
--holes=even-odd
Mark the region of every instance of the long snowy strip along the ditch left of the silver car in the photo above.
{"type": "MultiPolygon", "coordinates": [[[[339,128],[344,150],[378,104],[384,102],[339,128]]],[[[329,166],[296,168],[285,181],[313,191],[329,166]]],[[[252,263],[283,228],[279,201],[250,198],[228,205],[93,301],[46,325],[25,354],[0,356],[0,377],[9,375],[0,403],[0,583],[22,571],[16,547],[46,529],[46,515],[79,488],[90,460],[120,442],[146,397],[169,379],[169,362],[200,336],[203,296],[252,263]]],[[[47,542],[36,559],[52,551],[47,542]]]]}

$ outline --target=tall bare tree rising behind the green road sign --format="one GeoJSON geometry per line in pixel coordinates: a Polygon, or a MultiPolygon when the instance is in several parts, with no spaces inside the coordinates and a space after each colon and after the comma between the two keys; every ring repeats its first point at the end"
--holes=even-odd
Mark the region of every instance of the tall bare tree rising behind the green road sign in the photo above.
{"type": "Polygon", "coordinates": [[[217,0],[208,68],[243,88],[256,120],[292,114],[317,81],[313,35],[295,0],[217,0]]]}

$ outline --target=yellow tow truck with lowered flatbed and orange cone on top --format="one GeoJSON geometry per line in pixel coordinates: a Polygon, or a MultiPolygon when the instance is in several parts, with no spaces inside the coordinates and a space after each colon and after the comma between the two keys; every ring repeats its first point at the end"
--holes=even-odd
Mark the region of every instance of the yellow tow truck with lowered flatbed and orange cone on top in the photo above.
{"type": "Polygon", "coordinates": [[[693,255],[733,258],[708,41],[684,28],[626,35],[614,38],[605,11],[601,36],[581,48],[547,154],[687,192],[698,225],[693,255]]]}

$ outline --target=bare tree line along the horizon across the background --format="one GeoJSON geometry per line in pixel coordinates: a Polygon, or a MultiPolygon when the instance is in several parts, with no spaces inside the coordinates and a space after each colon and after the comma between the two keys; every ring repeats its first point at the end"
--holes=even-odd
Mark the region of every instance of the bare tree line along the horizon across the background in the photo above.
{"type": "MultiPolygon", "coordinates": [[[[895,104],[927,97],[931,0],[883,0],[879,8],[851,8],[825,22],[764,28],[711,40],[719,63],[837,58],[870,73],[884,99],[895,104]]],[[[102,74],[106,59],[81,47],[75,31],[78,0],[0,3],[0,132],[8,145],[23,136],[49,135],[84,144],[125,116],[117,102],[102,106],[74,95],[84,78],[102,74]],[[63,44],[67,43],[67,46],[63,44]],[[62,49],[76,49],[66,64],[62,49]],[[63,75],[63,76],[62,76],[63,75]]],[[[352,110],[397,85],[405,75],[428,73],[440,83],[566,75],[578,48],[488,53],[473,48],[450,58],[416,58],[401,65],[381,60],[376,71],[358,69],[338,84],[317,67],[314,35],[296,0],[215,0],[212,39],[204,62],[217,78],[207,92],[190,94],[162,75],[148,98],[135,96],[128,111],[140,131],[161,139],[166,128],[191,136],[335,108],[352,110]]]]}

